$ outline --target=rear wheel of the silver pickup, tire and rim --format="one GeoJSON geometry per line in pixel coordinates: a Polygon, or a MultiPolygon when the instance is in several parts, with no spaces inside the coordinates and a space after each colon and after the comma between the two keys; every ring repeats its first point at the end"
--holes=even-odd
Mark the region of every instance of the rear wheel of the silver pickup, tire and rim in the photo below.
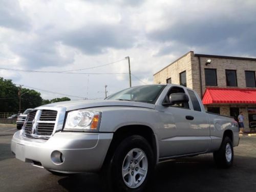
{"type": "Polygon", "coordinates": [[[225,137],[218,151],[214,152],[214,160],[217,166],[229,168],[233,164],[233,143],[229,137],[225,137]]]}

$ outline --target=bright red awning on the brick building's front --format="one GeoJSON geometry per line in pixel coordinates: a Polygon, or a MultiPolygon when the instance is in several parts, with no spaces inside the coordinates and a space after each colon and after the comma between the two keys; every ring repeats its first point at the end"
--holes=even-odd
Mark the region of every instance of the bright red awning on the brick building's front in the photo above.
{"type": "Polygon", "coordinates": [[[256,103],[256,89],[207,88],[203,104],[256,103]]]}

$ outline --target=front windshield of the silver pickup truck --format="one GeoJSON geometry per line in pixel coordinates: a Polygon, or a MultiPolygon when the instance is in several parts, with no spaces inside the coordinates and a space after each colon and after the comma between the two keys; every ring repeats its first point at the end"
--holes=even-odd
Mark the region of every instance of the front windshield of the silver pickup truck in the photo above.
{"type": "Polygon", "coordinates": [[[138,86],[117,92],[107,100],[125,100],[145,103],[155,103],[165,85],[138,86]]]}

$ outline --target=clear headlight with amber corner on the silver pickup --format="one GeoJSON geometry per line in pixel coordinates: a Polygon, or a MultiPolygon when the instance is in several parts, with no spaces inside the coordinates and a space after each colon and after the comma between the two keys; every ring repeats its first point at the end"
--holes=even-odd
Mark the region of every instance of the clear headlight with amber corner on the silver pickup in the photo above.
{"type": "Polygon", "coordinates": [[[68,113],[64,131],[97,131],[101,112],[77,110],[68,113]]]}

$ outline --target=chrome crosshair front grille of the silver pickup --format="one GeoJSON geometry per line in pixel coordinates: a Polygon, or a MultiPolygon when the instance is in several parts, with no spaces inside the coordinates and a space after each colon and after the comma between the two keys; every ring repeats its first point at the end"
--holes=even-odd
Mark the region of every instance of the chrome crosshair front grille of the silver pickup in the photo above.
{"type": "Polygon", "coordinates": [[[66,108],[37,108],[31,111],[24,123],[23,135],[29,138],[49,139],[62,130],[66,108]]]}

